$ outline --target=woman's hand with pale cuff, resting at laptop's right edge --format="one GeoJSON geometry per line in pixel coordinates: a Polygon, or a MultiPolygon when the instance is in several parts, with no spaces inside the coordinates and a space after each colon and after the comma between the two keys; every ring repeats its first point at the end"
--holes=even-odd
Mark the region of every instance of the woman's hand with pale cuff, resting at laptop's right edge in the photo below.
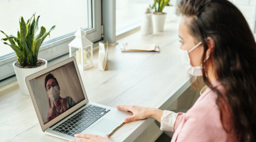
{"type": "Polygon", "coordinates": [[[155,118],[157,121],[161,121],[161,116],[163,115],[163,110],[151,108],[151,107],[142,107],[142,106],[128,106],[128,105],[116,105],[118,109],[124,111],[131,111],[132,116],[124,119],[124,123],[131,122],[134,120],[141,120],[145,118],[155,118]]]}

